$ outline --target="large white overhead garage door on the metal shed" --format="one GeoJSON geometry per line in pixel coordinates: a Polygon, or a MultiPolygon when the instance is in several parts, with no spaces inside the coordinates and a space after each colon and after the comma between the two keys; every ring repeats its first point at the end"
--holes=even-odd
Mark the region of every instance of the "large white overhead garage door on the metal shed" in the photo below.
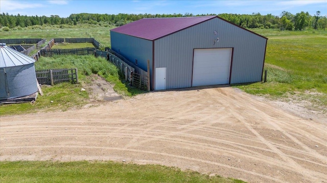
{"type": "Polygon", "coordinates": [[[228,84],[231,48],[194,49],[192,86],[228,84]]]}

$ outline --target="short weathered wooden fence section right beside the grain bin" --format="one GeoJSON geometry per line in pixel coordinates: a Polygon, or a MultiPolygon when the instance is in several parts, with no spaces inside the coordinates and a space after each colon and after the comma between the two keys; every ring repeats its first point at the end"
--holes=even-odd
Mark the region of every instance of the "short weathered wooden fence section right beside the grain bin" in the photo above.
{"type": "Polygon", "coordinates": [[[38,70],[36,78],[39,84],[54,85],[61,82],[78,83],[77,69],[47,69],[38,70]]]}

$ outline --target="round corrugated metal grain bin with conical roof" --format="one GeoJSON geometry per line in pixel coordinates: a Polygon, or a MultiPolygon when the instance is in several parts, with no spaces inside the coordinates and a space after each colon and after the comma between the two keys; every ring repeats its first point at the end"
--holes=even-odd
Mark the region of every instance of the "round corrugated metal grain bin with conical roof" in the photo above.
{"type": "Polygon", "coordinates": [[[0,43],[0,101],[37,93],[35,60],[0,43]]]}

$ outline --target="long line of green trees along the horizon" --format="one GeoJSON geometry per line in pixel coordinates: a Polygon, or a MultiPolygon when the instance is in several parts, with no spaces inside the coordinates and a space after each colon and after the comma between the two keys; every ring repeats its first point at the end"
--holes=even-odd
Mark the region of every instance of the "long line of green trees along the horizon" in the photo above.
{"type": "MultiPolygon", "coordinates": [[[[0,28],[28,27],[33,25],[77,25],[78,23],[103,24],[121,26],[126,23],[136,21],[142,18],[164,18],[164,17],[189,17],[189,16],[209,16],[216,14],[193,15],[185,14],[90,14],[79,13],[71,14],[69,17],[62,18],[58,15],[47,16],[21,16],[9,15],[8,13],[0,14],[0,28]]],[[[279,16],[272,14],[261,15],[260,13],[248,14],[218,14],[219,17],[226,19],[244,28],[279,28],[282,30],[299,30],[305,28],[323,29],[327,26],[327,17],[321,16],[320,11],[315,15],[308,12],[300,12],[295,15],[283,11],[279,16]]]]}

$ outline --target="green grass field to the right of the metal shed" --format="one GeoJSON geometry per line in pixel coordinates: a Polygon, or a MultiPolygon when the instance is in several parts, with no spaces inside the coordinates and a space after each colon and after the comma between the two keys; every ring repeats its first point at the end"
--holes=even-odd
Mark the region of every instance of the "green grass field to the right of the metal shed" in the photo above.
{"type": "Polygon", "coordinates": [[[288,101],[309,101],[309,109],[327,110],[327,31],[252,29],[269,38],[266,83],[236,85],[245,92],[288,101]]]}

